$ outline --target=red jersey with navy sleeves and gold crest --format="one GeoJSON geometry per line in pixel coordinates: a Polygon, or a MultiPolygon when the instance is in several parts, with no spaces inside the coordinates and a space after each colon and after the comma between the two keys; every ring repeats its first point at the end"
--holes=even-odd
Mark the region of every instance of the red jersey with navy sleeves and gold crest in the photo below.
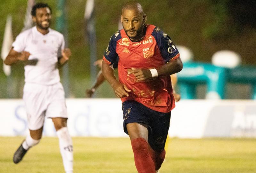
{"type": "Polygon", "coordinates": [[[154,25],[147,25],[145,37],[140,42],[132,42],[124,29],[117,31],[110,39],[103,60],[113,64],[119,57],[119,82],[130,90],[129,97],[122,102],[135,100],[158,112],[170,112],[175,107],[170,75],[158,76],[146,81],[137,81],[131,68],[152,69],[163,66],[180,56],[171,38],[154,25]]]}

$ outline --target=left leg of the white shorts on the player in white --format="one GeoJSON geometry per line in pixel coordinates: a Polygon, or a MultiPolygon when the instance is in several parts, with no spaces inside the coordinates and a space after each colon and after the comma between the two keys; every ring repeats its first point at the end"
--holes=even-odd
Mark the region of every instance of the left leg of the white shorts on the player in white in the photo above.
{"type": "Polygon", "coordinates": [[[28,129],[38,130],[44,125],[45,110],[45,87],[39,84],[26,83],[23,89],[23,101],[27,112],[28,129]]]}

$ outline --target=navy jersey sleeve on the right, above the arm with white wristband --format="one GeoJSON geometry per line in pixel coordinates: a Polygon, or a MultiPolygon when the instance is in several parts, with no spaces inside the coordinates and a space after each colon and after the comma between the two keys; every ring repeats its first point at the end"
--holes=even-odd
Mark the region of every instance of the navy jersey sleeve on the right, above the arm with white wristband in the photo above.
{"type": "Polygon", "coordinates": [[[157,46],[160,50],[162,57],[164,58],[164,62],[175,60],[180,56],[177,47],[174,45],[171,38],[166,33],[156,27],[152,32],[152,35],[156,39],[157,46]]]}

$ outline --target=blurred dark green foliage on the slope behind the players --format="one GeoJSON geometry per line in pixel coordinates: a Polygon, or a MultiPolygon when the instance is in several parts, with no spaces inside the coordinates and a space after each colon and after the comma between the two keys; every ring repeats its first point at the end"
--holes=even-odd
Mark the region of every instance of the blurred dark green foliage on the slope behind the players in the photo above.
{"type": "MultiPolygon", "coordinates": [[[[57,1],[47,0],[44,2],[52,7],[52,28],[55,29],[57,1]]],[[[84,33],[85,2],[84,0],[66,0],[68,47],[72,51],[68,62],[72,92],[70,95],[72,97],[84,97],[85,88],[93,85],[90,82],[90,51],[88,47],[90,43],[87,42],[84,33]]],[[[126,2],[126,0],[95,0],[97,59],[102,58],[110,37],[118,30],[121,9],[126,2]]],[[[227,10],[227,4],[234,3],[234,0],[140,0],[139,2],[148,16],[147,23],[161,28],[170,35],[176,45],[190,48],[194,52],[195,61],[211,62],[212,54],[216,51],[229,49],[241,54],[243,64],[256,64],[254,61],[256,58],[255,41],[253,41],[256,39],[256,29],[237,27],[236,21],[230,17],[231,13],[227,10]],[[246,46],[241,46],[241,44],[246,46]]],[[[3,38],[8,14],[12,14],[13,17],[14,38],[19,34],[23,27],[26,8],[27,0],[1,1],[0,38],[3,38]]],[[[0,45],[2,45],[2,41],[0,39],[0,45]]],[[[98,68],[98,70],[100,69],[98,68]]],[[[0,61],[0,71],[2,71],[2,61],[0,61]]],[[[17,63],[12,67],[12,77],[18,78],[19,81],[23,81],[23,72],[22,63],[17,63]]],[[[7,79],[2,72],[0,79],[0,88],[3,88],[7,85],[7,79]]],[[[110,89],[108,85],[106,86],[107,89],[110,89]]],[[[114,97],[113,94],[105,92],[105,89],[106,87],[104,89],[100,87],[97,97],[114,97]]],[[[0,97],[7,97],[7,95],[7,93],[1,93],[0,97]]],[[[17,94],[15,97],[21,96],[17,94]]]]}

